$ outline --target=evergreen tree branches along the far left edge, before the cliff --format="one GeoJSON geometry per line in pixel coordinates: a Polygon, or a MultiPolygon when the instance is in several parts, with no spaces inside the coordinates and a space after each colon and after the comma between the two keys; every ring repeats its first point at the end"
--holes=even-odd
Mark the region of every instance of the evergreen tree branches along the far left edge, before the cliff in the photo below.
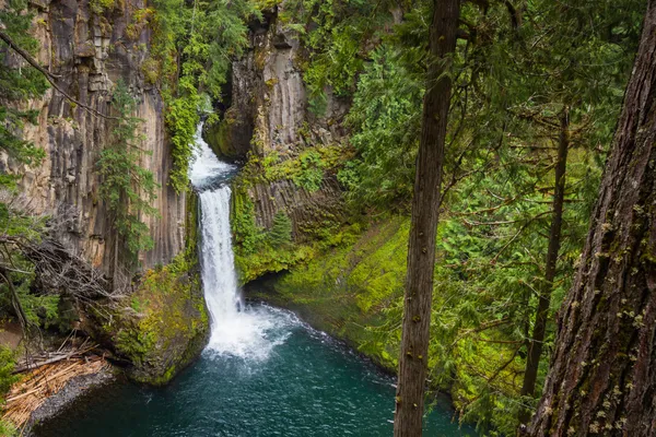
{"type": "MultiPolygon", "coordinates": [[[[30,36],[33,15],[26,11],[27,2],[10,1],[0,10],[0,25],[13,40],[27,52],[34,52],[37,42],[30,36]]],[[[40,96],[47,88],[43,75],[22,58],[4,46],[0,47],[0,153],[7,154],[15,168],[21,165],[37,165],[44,158],[43,150],[23,139],[25,123],[34,122],[37,111],[22,110],[22,101],[40,96]]],[[[15,317],[24,330],[34,323],[27,304],[26,288],[32,283],[32,267],[21,257],[15,247],[17,240],[34,240],[40,237],[43,222],[26,211],[20,201],[16,181],[21,174],[10,174],[0,166],[0,292],[2,300],[10,303],[15,317]]]]}

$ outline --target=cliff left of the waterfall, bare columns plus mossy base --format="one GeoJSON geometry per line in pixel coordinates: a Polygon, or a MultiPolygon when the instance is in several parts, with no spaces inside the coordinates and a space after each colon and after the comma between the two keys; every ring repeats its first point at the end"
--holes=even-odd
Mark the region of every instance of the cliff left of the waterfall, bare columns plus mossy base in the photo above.
{"type": "MultiPolygon", "coordinates": [[[[160,185],[153,202],[159,216],[143,218],[154,249],[139,255],[140,270],[145,274],[131,296],[99,312],[82,305],[80,321],[96,341],[131,363],[132,377],[166,382],[203,347],[209,324],[197,268],[197,205],[191,194],[177,194],[167,185],[172,160],[163,102],[159,91],[143,79],[151,31],[144,23],[136,23],[134,16],[147,8],[145,1],[31,3],[36,9],[38,61],[56,76],[59,86],[104,115],[110,113],[112,91],[118,80],[137,99],[134,116],[143,120],[139,128],[144,151],[140,165],[152,172],[160,185]]],[[[17,58],[14,61],[21,62],[17,58]]],[[[27,126],[24,137],[45,150],[46,158],[38,166],[19,167],[0,156],[0,166],[24,174],[21,188],[36,213],[66,223],[56,237],[69,250],[114,274],[114,250],[108,248],[114,247],[116,233],[98,198],[102,180],[96,166],[113,129],[112,120],[71,104],[54,90],[24,105],[38,110],[38,122],[27,126]]],[[[126,277],[130,280],[131,274],[126,277]]]]}

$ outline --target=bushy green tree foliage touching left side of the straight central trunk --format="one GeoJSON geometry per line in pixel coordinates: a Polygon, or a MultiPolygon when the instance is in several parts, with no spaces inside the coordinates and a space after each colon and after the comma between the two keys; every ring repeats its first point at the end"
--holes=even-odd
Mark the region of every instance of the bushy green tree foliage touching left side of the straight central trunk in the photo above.
{"type": "Polygon", "coordinates": [[[364,205],[410,199],[419,146],[423,85],[398,49],[384,45],[360,75],[349,123],[358,157],[340,170],[349,198],[364,205]]]}

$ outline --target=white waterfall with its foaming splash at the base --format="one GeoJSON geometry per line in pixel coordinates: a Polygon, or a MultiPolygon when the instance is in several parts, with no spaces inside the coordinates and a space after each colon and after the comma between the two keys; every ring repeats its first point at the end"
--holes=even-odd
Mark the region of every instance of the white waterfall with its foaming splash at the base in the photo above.
{"type": "Polygon", "coordinates": [[[195,160],[189,179],[199,191],[201,213],[201,275],[211,317],[208,351],[218,355],[265,359],[284,342],[289,331],[281,330],[291,320],[272,309],[247,308],[237,287],[230,226],[231,189],[225,184],[236,167],[222,163],[196,132],[195,160]]]}

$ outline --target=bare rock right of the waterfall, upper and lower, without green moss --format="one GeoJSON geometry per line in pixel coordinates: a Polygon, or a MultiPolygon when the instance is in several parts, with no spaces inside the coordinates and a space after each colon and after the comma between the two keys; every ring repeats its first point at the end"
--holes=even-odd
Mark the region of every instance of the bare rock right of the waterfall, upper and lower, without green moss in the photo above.
{"type": "MultiPolygon", "coordinates": [[[[265,13],[262,22],[251,23],[250,47],[232,64],[227,108],[222,121],[209,128],[206,137],[219,155],[248,161],[247,166],[255,168],[255,173],[242,174],[235,182],[234,214],[253,214],[256,227],[267,232],[276,214],[283,211],[292,221],[294,243],[305,244],[316,238],[316,231],[327,222],[343,220],[341,189],[335,174],[323,168],[317,189],[307,189],[292,174],[282,172],[269,177],[261,163],[251,164],[268,156],[274,165],[296,161],[295,168],[301,168],[302,154],[308,150],[339,149],[347,133],[341,121],[349,102],[333,97],[327,90],[325,110],[320,115],[312,110],[300,66],[308,54],[298,35],[279,20],[280,8],[284,2],[265,13]],[[253,211],[239,211],[244,204],[253,205],[253,211]]],[[[242,255],[238,241],[235,249],[237,256],[242,255]]],[[[258,262],[261,253],[259,258],[258,262]]],[[[273,264],[277,267],[271,270],[280,269],[280,263],[273,264]]]]}

